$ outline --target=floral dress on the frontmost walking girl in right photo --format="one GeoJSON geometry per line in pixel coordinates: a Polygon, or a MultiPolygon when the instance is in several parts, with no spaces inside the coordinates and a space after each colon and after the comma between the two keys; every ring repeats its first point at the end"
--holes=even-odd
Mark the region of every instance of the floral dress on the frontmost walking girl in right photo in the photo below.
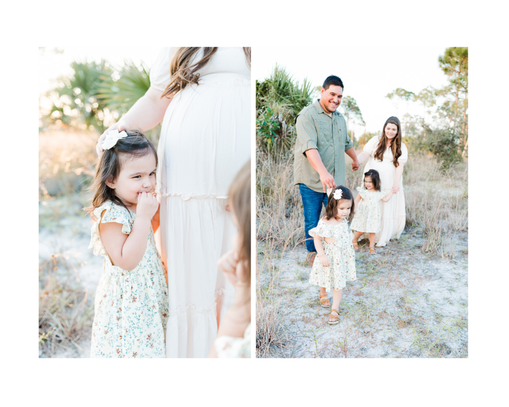
{"type": "Polygon", "coordinates": [[[330,267],[323,267],[320,257],[315,257],[309,284],[324,287],[330,293],[330,287],[337,289],[345,288],[346,281],[357,279],[355,272],[355,251],[348,231],[348,223],[343,220],[338,225],[329,225],[320,219],[318,226],[309,230],[309,235],[315,237],[315,233],[322,238],[335,239],[334,243],[322,240],[325,255],[329,258],[330,267]]]}

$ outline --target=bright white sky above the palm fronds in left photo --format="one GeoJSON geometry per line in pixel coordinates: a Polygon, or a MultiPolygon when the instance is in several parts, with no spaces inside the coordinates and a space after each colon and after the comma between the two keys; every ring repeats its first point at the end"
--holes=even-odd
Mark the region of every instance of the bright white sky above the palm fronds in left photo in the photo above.
{"type": "Polygon", "coordinates": [[[148,68],[157,59],[160,47],[44,47],[39,48],[39,96],[54,87],[53,79],[69,75],[73,61],[97,61],[101,59],[113,65],[123,65],[124,60],[139,65],[143,61],[148,68]]]}

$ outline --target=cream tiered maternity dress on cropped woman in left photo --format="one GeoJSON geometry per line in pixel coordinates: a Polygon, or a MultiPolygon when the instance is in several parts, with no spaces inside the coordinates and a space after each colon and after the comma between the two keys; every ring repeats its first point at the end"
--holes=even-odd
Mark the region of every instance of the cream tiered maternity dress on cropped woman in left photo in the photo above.
{"type": "MultiPolygon", "coordinates": [[[[163,47],[150,72],[161,92],[178,47],[163,47]]],[[[199,61],[203,47],[194,56],[199,61]]],[[[237,232],[228,190],[251,157],[251,70],[241,46],[218,47],[200,85],[175,95],[157,148],[161,257],[168,273],[167,358],[206,358],[233,286],[216,266],[237,232]]]]}

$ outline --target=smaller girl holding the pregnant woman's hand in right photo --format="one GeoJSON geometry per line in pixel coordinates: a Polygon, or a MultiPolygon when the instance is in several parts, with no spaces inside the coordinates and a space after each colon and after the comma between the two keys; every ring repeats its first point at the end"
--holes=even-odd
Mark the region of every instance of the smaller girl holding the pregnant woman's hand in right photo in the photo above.
{"type": "Polygon", "coordinates": [[[359,250],[359,245],[357,243],[359,237],[364,233],[369,233],[370,253],[376,254],[374,247],[375,234],[380,231],[382,224],[380,200],[387,202],[392,197],[392,191],[385,195],[385,191],[382,190],[380,175],[375,169],[370,169],[364,173],[363,184],[364,187],[357,187],[357,191],[359,191],[359,194],[355,198],[357,211],[350,225],[352,230],[356,230],[352,244],[354,250],[359,250]]]}

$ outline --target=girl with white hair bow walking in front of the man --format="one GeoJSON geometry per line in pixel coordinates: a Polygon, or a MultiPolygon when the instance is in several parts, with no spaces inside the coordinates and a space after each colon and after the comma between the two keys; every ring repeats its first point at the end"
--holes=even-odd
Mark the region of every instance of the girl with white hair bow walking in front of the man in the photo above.
{"type": "Polygon", "coordinates": [[[330,293],[330,287],[334,288],[329,324],[335,325],[340,322],[340,302],[346,281],[357,279],[355,252],[347,223],[353,217],[355,203],[352,192],[344,186],[328,190],[327,194],[329,201],[325,216],[318,222],[317,227],[309,230],[309,236],[315,238],[318,253],[309,284],[320,286],[320,305],[324,308],[330,307],[327,293],[330,293]],[[322,239],[325,240],[323,245],[322,239]]]}

